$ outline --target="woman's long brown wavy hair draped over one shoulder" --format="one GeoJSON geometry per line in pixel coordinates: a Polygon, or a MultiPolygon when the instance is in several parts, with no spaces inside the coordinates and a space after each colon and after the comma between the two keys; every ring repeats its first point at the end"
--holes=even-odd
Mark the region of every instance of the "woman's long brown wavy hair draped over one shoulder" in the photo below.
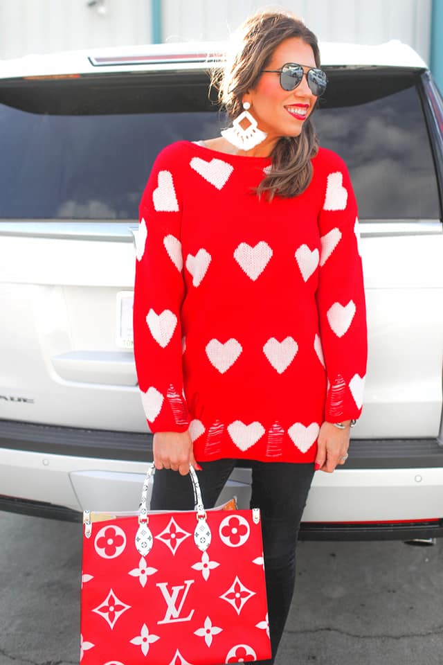
{"type": "MultiPolygon", "coordinates": [[[[289,12],[262,11],[252,15],[234,36],[226,67],[215,69],[211,80],[218,90],[218,100],[230,118],[242,112],[242,98],[255,88],[266,69],[275,48],[291,37],[300,37],[314,51],[316,66],[320,67],[320,51],[316,35],[295,15],[289,12]]],[[[271,153],[272,169],[260,185],[257,194],[266,193],[293,197],[301,194],[312,178],[311,157],[318,151],[318,139],[307,118],[299,136],[282,136],[271,153]]]]}

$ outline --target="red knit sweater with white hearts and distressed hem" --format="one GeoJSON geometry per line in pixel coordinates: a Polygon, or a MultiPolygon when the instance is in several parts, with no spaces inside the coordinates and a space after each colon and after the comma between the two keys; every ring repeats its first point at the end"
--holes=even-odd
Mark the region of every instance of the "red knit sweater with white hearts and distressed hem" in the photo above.
{"type": "Polygon", "coordinates": [[[320,148],[300,196],[259,199],[271,158],[179,141],[136,237],[134,355],[152,432],[197,461],[312,462],[323,420],[361,413],[366,324],[356,201],[320,148]]]}

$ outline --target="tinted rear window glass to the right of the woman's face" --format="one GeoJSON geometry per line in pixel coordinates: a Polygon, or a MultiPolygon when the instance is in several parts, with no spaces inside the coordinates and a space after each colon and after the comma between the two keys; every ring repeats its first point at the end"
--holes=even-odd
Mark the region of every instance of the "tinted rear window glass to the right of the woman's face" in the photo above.
{"type": "Polygon", "coordinates": [[[319,109],[325,148],[347,163],[361,219],[438,219],[431,145],[417,89],[352,106],[319,109]]]}

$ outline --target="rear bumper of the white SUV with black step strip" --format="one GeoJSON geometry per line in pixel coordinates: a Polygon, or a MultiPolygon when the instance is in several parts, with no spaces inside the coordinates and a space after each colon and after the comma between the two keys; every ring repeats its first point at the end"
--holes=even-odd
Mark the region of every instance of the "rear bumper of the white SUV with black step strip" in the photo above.
{"type": "MultiPolygon", "coordinates": [[[[441,447],[436,441],[405,441],[404,456],[395,456],[393,450],[401,450],[398,441],[372,443],[352,441],[345,468],[316,473],[300,538],[406,540],[443,535],[441,447]],[[379,454],[381,448],[384,454],[379,454]]],[[[4,420],[0,445],[0,509],[57,519],[78,520],[85,508],[136,511],[152,459],[150,434],[4,420]]],[[[236,468],[221,498],[236,495],[239,506],[248,507],[250,485],[250,470],[236,468]]]]}

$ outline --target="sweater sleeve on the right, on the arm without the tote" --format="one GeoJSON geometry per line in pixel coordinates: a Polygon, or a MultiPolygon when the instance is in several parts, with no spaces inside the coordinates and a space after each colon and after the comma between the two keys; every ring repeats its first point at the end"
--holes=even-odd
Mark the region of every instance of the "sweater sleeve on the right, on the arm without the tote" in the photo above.
{"type": "Polygon", "coordinates": [[[328,380],[325,420],[331,423],[360,416],[368,353],[356,200],[345,163],[334,157],[325,170],[323,207],[318,216],[317,290],[328,380]]]}

